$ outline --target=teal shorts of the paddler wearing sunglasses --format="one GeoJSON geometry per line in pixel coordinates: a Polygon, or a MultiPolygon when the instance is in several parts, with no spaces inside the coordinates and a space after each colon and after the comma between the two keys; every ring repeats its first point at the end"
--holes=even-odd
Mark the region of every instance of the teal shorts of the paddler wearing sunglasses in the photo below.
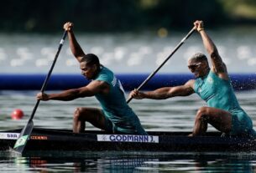
{"type": "Polygon", "coordinates": [[[253,122],[248,114],[243,111],[232,113],[231,135],[256,137],[256,132],[253,130],[253,122]]]}

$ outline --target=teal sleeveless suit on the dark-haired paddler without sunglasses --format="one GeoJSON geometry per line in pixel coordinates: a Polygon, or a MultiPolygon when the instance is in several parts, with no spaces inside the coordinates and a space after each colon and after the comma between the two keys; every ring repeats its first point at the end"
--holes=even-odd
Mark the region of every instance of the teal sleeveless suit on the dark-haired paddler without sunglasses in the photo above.
{"type": "Polygon", "coordinates": [[[121,82],[115,77],[111,70],[101,67],[95,80],[104,81],[110,86],[109,94],[96,94],[97,100],[102,105],[102,110],[118,131],[147,135],[138,120],[138,116],[126,103],[124,90],[121,82]],[[132,131],[131,131],[132,130],[132,131]]]}

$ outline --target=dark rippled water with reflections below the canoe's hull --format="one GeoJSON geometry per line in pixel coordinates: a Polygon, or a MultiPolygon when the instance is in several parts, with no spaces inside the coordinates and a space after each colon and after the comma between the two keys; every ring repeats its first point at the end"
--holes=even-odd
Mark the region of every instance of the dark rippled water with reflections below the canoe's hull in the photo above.
{"type": "Polygon", "coordinates": [[[9,172],[254,172],[255,153],[1,153],[0,166],[9,172]]]}

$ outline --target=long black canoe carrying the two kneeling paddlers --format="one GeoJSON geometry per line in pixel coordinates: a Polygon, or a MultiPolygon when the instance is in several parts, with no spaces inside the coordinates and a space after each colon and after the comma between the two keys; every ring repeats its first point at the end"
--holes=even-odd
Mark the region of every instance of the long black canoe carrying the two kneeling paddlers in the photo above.
{"type": "MultiPolygon", "coordinates": [[[[0,131],[0,150],[13,148],[21,129],[0,131]]],[[[256,140],[207,132],[189,137],[190,132],[149,131],[149,135],[112,135],[99,130],[75,134],[71,130],[34,128],[25,151],[155,151],[228,152],[255,151],[256,140]]]]}

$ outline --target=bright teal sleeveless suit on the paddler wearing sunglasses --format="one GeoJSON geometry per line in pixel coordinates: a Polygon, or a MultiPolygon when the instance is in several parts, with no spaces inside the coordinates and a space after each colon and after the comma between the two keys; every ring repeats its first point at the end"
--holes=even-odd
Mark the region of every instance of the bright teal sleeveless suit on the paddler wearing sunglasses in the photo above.
{"type": "Polygon", "coordinates": [[[223,109],[232,114],[231,134],[253,134],[253,122],[238,104],[230,79],[224,80],[210,70],[203,78],[196,79],[194,90],[209,107],[223,109]]]}

